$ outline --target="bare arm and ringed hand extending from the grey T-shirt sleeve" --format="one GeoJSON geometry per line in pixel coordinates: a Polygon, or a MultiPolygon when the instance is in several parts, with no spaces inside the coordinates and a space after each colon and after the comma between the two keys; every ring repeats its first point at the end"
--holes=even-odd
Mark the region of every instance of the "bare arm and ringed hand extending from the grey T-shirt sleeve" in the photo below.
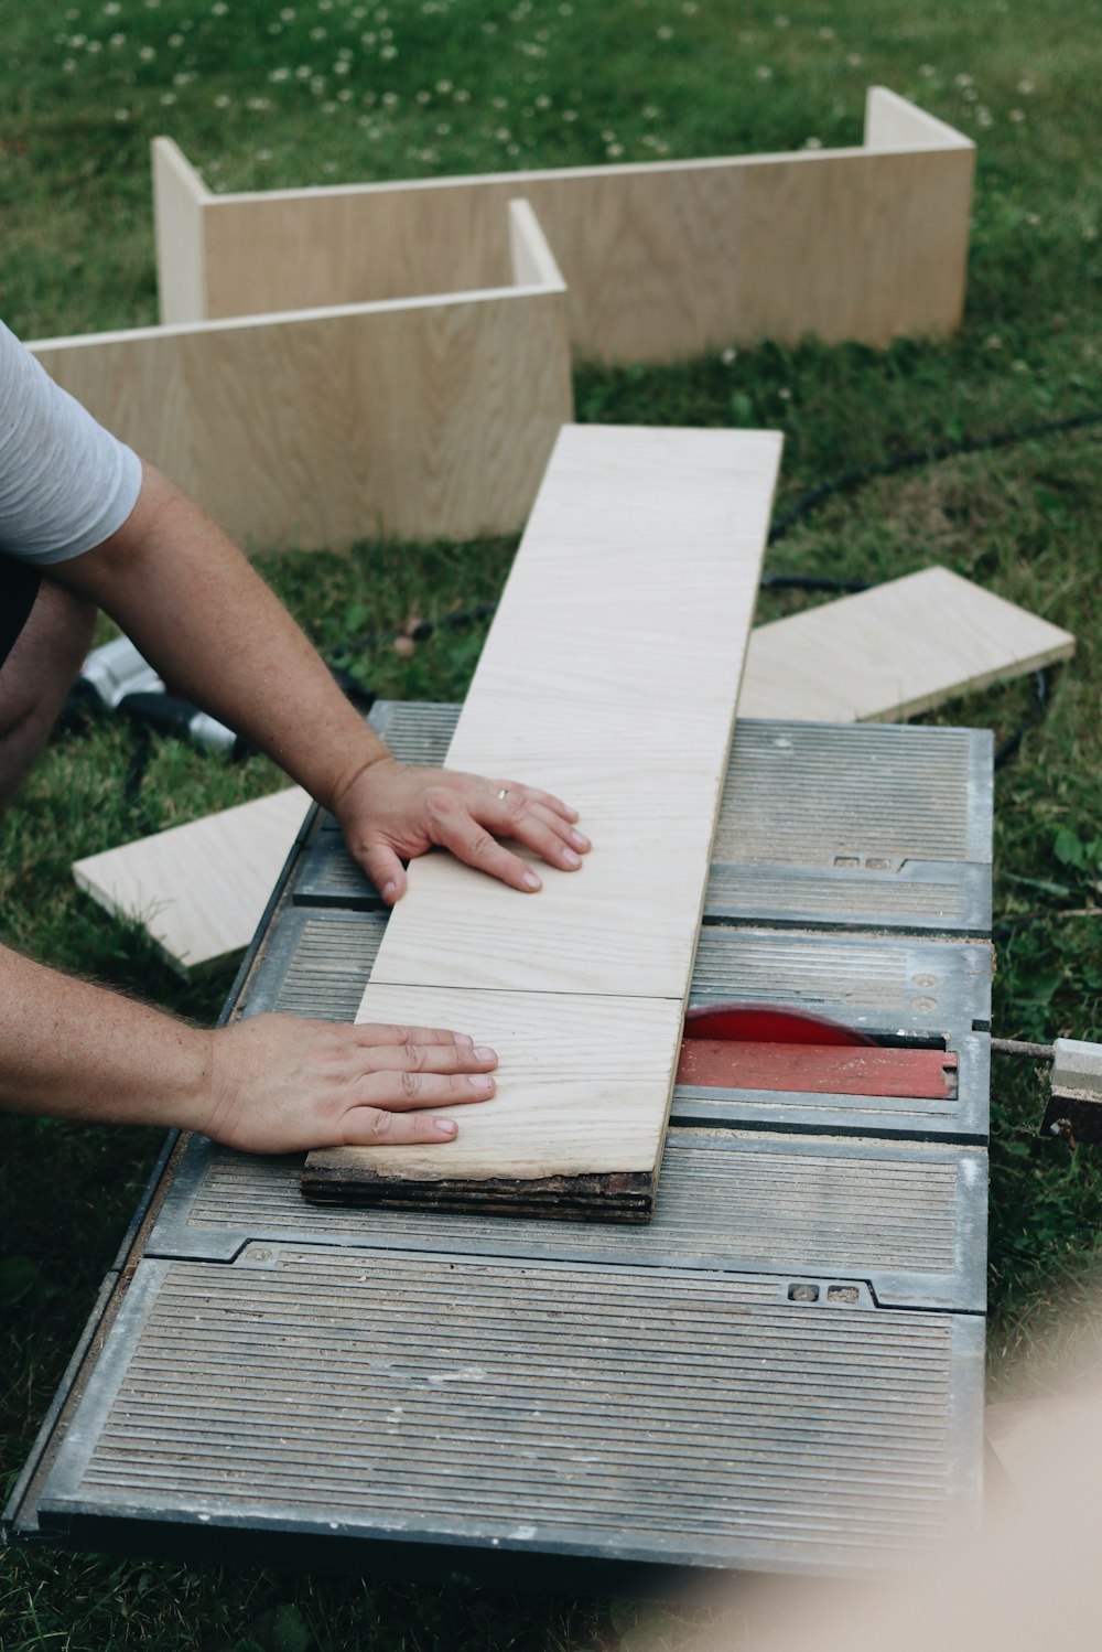
{"type": "Polygon", "coordinates": [[[581,864],[589,841],[558,798],[396,763],[249,562],[155,469],[119,532],[51,573],[109,613],[173,689],[332,808],[388,900],[404,892],[401,861],[431,844],[523,890],[539,881],[498,836],[563,871],[581,864]]]}

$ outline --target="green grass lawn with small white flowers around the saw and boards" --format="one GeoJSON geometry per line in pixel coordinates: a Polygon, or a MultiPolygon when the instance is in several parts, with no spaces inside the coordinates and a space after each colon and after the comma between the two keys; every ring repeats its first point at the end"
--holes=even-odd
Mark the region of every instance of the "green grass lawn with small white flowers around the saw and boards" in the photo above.
{"type": "MultiPolygon", "coordinates": [[[[779,509],[907,449],[1102,408],[1102,172],[1092,111],[1102,5],[1081,0],[7,0],[0,10],[0,316],[26,339],[155,320],[148,140],[219,188],[856,144],[868,84],[978,142],[968,307],[952,340],[886,352],[724,350],[668,368],[579,363],[582,420],[775,426],[779,509]],[[784,13],[780,12],[784,7],[784,13]]],[[[808,273],[813,279],[813,271],[808,273]]],[[[1102,1037],[1102,482],[1099,430],[957,458],[835,496],[770,572],[881,580],[945,563],[1067,626],[1079,656],[1038,714],[1015,684],[942,722],[1024,729],[996,783],[995,1029],[1102,1037]],[[1095,912],[1094,917],[1084,915],[1095,912]]],[[[264,560],[322,649],[379,694],[460,697],[485,621],[412,657],[374,641],[411,613],[492,603],[513,545],[363,544],[264,560]]],[[[765,593],[762,618],[790,610],[765,593]]],[[[213,1018],[79,897],[69,862],[279,783],[172,742],[127,791],[134,735],[54,740],[0,819],[0,933],[45,960],[213,1018]]],[[[1041,1363],[1064,1287],[1097,1264],[1089,1148],[1039,1140],[1041,1077],[996,1061],[991,1383],[1041,1363]]],[[[144,1130],[5,1120],[0,1480],[21,1465],[158,1146],[144,1130]]],[[[635,1649],[693,1645],[714,1614],[7,1555],[3,1652],[635,1649]]],[[[747,1644],[739,1619],[728,1642],[747,1644]]]]}

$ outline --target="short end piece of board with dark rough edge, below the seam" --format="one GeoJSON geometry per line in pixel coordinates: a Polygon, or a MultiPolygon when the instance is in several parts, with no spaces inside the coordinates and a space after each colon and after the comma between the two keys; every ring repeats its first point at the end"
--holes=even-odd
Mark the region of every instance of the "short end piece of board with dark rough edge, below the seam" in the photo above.
{"type": "Polygon", "coordinates": [[[360,1019],[469,1031],[498,1052],[497,1094],[434,1108],[459,1123],[442,1148],[312,1153],[307,1198],[647,1219],[680,999],[371,985],[360,1019]]]}

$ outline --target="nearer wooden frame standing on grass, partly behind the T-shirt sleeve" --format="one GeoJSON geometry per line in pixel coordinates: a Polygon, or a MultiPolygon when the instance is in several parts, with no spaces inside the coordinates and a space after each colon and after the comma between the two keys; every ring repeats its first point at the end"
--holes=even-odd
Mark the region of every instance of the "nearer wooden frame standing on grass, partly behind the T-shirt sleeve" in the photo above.
{"type": "Polygon", "coordinates": [[[563,281],[518,213],[541,284],[31,349],[246,547],[516,532],[572,416],[563,281]]]}

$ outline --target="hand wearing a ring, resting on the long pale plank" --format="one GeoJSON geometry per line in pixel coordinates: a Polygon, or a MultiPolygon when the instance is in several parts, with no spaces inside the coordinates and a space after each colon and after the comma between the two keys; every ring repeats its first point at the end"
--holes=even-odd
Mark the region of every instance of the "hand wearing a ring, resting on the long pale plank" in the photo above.
{"type": "Polygon", "coordinates": [[[535,849],[563,872],[576,872],[589,849],[589,838],[574,826],[577,811],[549,791],[450,768],[406,767],[391,757],[361,770],[333,811],[348,849],[388,907],[406,894],[403,861],[434,844],[526,894],[541,887],[539,879],[498,838],[535,849]]]}

